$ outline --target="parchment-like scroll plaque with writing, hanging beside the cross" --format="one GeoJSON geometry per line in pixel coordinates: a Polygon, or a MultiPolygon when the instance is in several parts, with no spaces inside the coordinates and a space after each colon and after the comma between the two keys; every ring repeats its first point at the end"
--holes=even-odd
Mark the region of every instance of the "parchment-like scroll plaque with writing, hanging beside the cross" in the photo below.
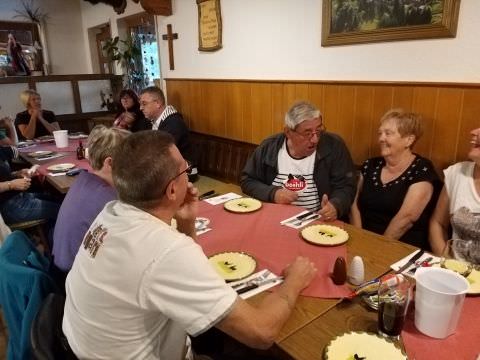
{"type": "Polygon", "coordinates": [[[220,0],[197,0],[198,50],[215,51],[222,48],[222,16],[220,0]]]}

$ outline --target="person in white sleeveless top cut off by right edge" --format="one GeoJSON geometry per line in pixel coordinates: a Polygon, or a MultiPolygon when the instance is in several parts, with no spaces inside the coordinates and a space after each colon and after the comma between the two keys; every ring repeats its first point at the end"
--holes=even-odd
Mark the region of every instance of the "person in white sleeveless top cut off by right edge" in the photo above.
{"type": "Polygon", "coordinates": [[[430,245],[441,255],[452,225],[452,239],[480,241],[480,128],[470,132],[472,161],[456,163],[444,170],[445,185],[430,219],[430,245]]]}

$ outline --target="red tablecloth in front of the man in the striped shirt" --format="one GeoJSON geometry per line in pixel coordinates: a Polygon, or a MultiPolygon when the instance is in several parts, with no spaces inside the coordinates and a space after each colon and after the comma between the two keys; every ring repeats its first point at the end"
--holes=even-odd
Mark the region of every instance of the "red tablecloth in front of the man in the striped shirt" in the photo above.
{"type": "MultiPolygon", "coordinates": [[[[300,238],[299,231],[280,225],[301,212],[291,205],[264,203],[256,212],[234,214],[224,210],[223,205],[200,204],[200,216],[210,219],[211,231],[198,237],[205,254],[224,251],[244,251],[255,257],[258,269],[268,268],[276,274],[297,256],[306,256],[317,266],[318,273],[302,295],[320,298],[340,298],[349,293],[347,286],[335,285],[330,274],[338,256],[346,259],[345,245],[323,247],[311,245],[300,238]]],[[[340,225],[338,223],[336,225],[340,225]]]]}

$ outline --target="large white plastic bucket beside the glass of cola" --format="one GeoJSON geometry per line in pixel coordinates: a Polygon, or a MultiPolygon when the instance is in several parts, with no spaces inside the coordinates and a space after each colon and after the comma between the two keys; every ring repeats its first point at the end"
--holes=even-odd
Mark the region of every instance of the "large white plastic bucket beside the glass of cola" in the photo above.
{"type": "Polygon", "coordinates": [[[462,313],[468,281],[452,270],[426,267],[415,273],[415,326],[443,339],[453,334],[462,313]]]}

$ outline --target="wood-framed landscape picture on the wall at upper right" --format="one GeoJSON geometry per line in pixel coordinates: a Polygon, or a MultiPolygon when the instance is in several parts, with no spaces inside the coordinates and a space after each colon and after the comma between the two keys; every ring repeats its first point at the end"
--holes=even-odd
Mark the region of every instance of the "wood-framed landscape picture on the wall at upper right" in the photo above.
{"type": "Polygon", "coordinates": [[[322,46],[455,37],[460,0],[323,0],[322,46]]]}

